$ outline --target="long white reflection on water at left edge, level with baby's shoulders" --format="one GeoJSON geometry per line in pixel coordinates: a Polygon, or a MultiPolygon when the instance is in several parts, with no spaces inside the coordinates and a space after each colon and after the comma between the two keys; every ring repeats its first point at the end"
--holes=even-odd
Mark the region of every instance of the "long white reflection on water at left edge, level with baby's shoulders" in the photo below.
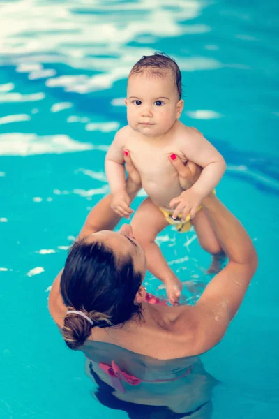
{"type": "Polygon", "coordinates": [[[34,154],[60,154],[93,149],[93,145],[78,142],[68,135],[37,135],[35,133],[0,134],[0,155],[31,156],[34,154]]]}

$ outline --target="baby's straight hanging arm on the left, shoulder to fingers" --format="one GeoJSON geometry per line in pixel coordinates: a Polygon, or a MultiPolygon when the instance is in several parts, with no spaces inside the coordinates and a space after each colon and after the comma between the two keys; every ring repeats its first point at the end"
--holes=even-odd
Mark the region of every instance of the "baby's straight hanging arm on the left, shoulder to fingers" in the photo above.
{"type": "Polygon", "coordinates": [[[105,156],[105,172],[112,191],[112,210],[120,216],[129,218],[133,210],[130,208],[130,197],[126,191],[123,148],[124,137],[122,128],[116,133],[112,145],[105,156]]]}

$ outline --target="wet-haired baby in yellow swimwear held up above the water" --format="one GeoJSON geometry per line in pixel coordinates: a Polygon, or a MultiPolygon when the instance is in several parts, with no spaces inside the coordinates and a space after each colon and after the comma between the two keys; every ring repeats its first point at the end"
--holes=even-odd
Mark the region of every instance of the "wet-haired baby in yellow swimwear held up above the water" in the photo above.
{"type": "Polygon", "coordinates": [[[144,56],[133,66],[125,103],[128,125],[116,133],[105,159],[112,209],[127,219],[133,213],[123,164],[123,153],[130,153],[149,196],[135,212],[133,232],[146,253],[148,270],[164,282],[169,301],[176,304],[182,284],[154,240],[168,224],[174,224],[179,232],[188,231],[193,224],[199,243],[213,255],[211,272],[218,270],[223,251],[201,203],[220,182],[225,160],[199,131],[179,122],[183,110],[181,72],[166,54],[144,56]],[[169,161],[176,156],[203,168],[197,182],[186,191],[169,161]]]}

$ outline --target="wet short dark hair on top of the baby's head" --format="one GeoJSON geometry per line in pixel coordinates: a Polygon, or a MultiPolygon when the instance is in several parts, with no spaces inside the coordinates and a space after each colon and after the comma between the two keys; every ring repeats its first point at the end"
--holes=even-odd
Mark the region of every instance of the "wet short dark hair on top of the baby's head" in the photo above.
{"type": "Polygon", "coordinates": [[[172,57],[169,57],[169,55],[165,54],[164,52],[154,52],[153,55],[144,55],[140,61],[137,61],[137,63],[133,66],[132,70],[130,71],[130,75],[142,73],[146,68],[151,70],[151,73],[161,77],[163,72],[160,70],[172,71],[174,80],[176,82],[179,99],[181,99],[181,71],[179,66],[176,64],[176,61],[172,57]]]}

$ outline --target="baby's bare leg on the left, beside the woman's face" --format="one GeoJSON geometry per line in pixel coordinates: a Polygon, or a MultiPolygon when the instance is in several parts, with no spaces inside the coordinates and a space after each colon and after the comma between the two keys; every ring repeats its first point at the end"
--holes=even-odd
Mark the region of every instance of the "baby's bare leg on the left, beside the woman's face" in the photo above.
{"type": "Polygon", "coordinates": [[[159,208],[146,198],[135,212],[131,222],[135,238],[142,244],[147,259],[147,269],[166,286],[171,304],[179,302],[182,284],[167,265],[162,252],[154,242],[156,235],[168,226],[159,208]]]}

